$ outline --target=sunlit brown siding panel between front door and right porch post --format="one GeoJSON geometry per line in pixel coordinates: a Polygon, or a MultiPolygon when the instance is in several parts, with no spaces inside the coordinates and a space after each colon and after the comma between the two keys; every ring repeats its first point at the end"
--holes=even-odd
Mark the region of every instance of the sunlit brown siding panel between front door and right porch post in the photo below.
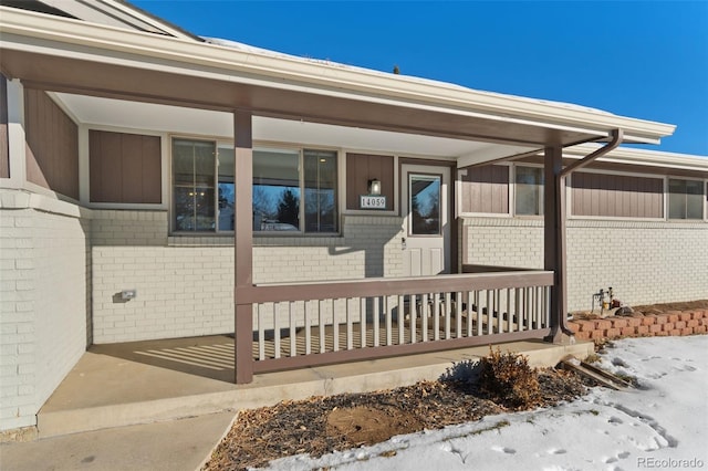
{"type": "Polygon", "coordinates": [[[509,167],[467,167],[462,180],[462,212],[509,212],[509,167]]]}

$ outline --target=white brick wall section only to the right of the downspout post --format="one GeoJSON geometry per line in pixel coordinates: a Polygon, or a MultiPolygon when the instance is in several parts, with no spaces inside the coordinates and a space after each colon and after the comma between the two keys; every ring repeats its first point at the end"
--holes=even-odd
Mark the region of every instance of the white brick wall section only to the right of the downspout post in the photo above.
{"type": "Polygon", "coordinates": [[[572,220],[569,308],[612,286],[628,305],[708,299],[708,224],[572,220]]]}

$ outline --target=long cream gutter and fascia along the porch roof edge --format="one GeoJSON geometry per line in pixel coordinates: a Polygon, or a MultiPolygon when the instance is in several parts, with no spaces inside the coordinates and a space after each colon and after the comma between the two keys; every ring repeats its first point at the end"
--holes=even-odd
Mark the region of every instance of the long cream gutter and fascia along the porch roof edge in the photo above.
{"type": "MultiPolygon", "coordinates": [[[[616,116],[598,112],[563,106],[563,104],[491,94],[461,88],[451,84],[430,84],[394,74],[311,62],[305,59],[271,56],[242,52],[226,46],[198,43],[192,40],[160,36],[128,31],[77,20],[52,18],[28,11],[0,7],[2,23],[0,33],[65,44],[86,51],[86,48],[110,52],[104,55],[129,54],[139,57],[145,65],[169,61],[194,72],[196,69],[218,71],[236,80],[239,76],[258,76],[270,86],[306,84],[327,94],[332,91],[356,95],[358,98],[394,101],[416,107],[442,107],[460,114],[489,115],[501,121],[524,121],[549,127],[569,127],[590,130],[598,138],[608,136],[615,128],[625,132],[625,142],[658,144],[662,137],[673,134],[675,126],[663,123],[616,116]],[[157,61],[156,61],[157,60],[157,61]]],[[[4,41],[3,41],[4,43],[4,41]]],[[[17,46],[17,44],[3,44],[17,46]]],[[[59,48],[58,48],[59,49],[59,48]]]]}

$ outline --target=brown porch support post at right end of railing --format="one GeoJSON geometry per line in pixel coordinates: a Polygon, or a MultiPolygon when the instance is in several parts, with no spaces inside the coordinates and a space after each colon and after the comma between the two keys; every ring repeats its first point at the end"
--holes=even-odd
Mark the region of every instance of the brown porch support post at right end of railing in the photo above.
{"type": "Polygon", "coordinates": [[[549,342],[560,343],[568,313],[568,287],[565,272],[565,178],[563,170],[563,148],[546,147],[544,151],[543,195],[543,264],[553,271],[551,287],[551,334],[549,342]]]}

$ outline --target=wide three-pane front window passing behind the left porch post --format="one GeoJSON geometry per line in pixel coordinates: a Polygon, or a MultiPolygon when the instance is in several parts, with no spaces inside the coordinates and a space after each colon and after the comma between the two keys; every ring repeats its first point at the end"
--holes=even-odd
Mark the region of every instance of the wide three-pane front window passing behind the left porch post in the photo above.
{"type": "MultiPolygon", "coordinates": [[[[235,229],[233,147],[214,140],[173,140],[173,229],[235,229]]],[[[337,153],[253,149],[253,231],[336,233],[337,153]]]]}

